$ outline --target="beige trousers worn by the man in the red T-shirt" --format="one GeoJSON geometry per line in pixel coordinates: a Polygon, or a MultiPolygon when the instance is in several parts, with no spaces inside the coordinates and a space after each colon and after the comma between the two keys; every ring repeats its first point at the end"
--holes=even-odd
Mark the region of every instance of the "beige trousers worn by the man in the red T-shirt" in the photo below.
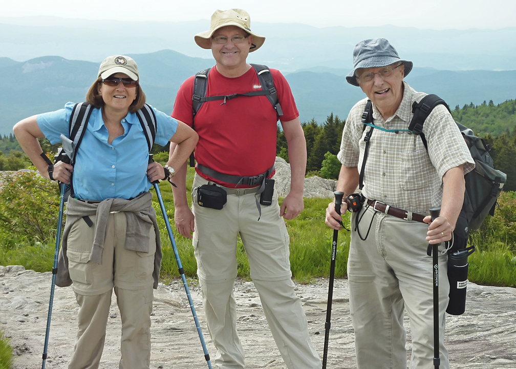
{"type": "MultiPolygon", "coordinates": [[[[207,183],[196,174],[195,188],[207,183]]],[[[308,333],[301,300],[294,292],[289,238],[279,216],[278,194],[272,205],[256,208],[254,193],[228,195],[222,210],[208,209],[193,201],[193,247],[203,294],[209,334],[217,348],[212,363],[219,369],[244,368],[244,350],[236,331],[233,295],[237,275],[237,236],[249,259],[251,278],[260,295],[265,317],[280,354],[289,369],[319,369],[321,361],[308,333]]]]}

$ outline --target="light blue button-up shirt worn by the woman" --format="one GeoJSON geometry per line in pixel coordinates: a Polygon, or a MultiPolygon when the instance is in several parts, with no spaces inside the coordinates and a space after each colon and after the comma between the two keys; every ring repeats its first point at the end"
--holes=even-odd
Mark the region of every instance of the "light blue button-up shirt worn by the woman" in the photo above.
{"type": "MultiPolygon", "coordinates": [[[[39,114],[38,126],[52,144],[61,142],[61,133],[69,137],[70,115],[74,103],[65,109],[39,114]]],[[[152,107],[156,115],[156,139],[165,146],[178,128],[178,121],[152,107]]],[[[100,109],[91,113],[87,130],[75,157],[73,189],[75,197],[102,201],[106,198],[130,199],[149,191],[147,179],[149,147],[138,117],[128,113],[122,119],[124,134],[111,144],[100,109]]]]}

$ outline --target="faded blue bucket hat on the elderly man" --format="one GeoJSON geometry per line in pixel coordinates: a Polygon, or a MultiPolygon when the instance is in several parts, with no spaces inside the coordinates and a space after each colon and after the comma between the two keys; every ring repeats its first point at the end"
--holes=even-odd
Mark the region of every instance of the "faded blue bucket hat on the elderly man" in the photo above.
{"type": "Polygon", "coordinates": [[[359,68],[378,68],[401,61],[405,65],[405,75],[412,70],[412,61],[400,59],[398,52],[384,38],[370,38],[360,41],[353,50],[353,70],[346,75],[346,80],[358,86],[355,72],[359,68]]]}

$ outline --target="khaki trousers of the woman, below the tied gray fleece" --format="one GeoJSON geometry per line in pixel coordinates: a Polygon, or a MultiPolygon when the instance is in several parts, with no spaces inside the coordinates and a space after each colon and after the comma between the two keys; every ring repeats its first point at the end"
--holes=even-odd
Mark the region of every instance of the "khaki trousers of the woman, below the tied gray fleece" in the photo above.
{"type": "MultiPolygon", "coordinates": [[[[90,217],[93,224],[95,218],[90,217]]],[[[106,324],[115,287],[122,338],[120,342],[123,369],[149,368],[151,349],[151,319],[153,300],[154,227],[150,230],[149,253],[125,250],[127,221],[123,212],[109,214],[102,265],[88,262],[93,244],[94,225],[77,221],[68,236],[70,278],[77,303],[78,332],[69,369],[99,367],[106,324]]]]}

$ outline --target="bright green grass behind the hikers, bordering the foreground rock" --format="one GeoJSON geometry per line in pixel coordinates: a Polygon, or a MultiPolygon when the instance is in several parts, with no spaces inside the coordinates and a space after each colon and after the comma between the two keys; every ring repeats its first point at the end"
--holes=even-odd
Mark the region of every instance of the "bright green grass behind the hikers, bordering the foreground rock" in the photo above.
{"type": "MultiPolygon", "coordinates": [[[[163,159],[166,159],[165,155],[163,159]]],[[[193,169],[189,168],[187,175],[188,193],[191,191],[193,175],[193,169]]],[[[193,255],[191,240],[182,237],[175,231],[174,205],[170,185],[163,182],[160,190],[185,274],[189,278],[196,278],[197,263],[193,255]]],[[[47,193],[49,194],[48,196],[55,196],[51,190],[47,190],[47,193]]],[[[477,248],[477,252],[469,258],[470,281],[487,285],[516,286],[515,197],[515,192],[502,193],[499,198],[500,207],[496,210],[495,217],[488,217],[488,220],[479,230],[472,232],[470,241],[477,248]]],[[[188,201],[191,201],[189,194],[187,198],[188,201]]],[[[153,200],[162,235],[163,261],[161,275],[166,282],[172,278],[177,278],[179,272],[157,197],[154,196],[153,200]]],[[[16,201],[27,202],[28,197],[21,197],[16,201]]],[[[41,202],[41,200],[39,201],[41,202]]],[[[282,201],[283,199],[280,198],[280,203],[282,201]]],[[[55,207],[55,200],[52,202],[54,204],[52,206],[55,207]]],[[[291,269],[294,278],[300,283],[308,283],[315,277],[327,277],[329,275],[333,230],[324,223],[325,211],[329,202],[329,198],[305,198],[304,210],[299,217],[286,221],[288,234],[291,239],[291,269]]],[[[39,203],[36,205],[28,206],[32,213],[38,212],[41,207],[39,203]],[[32,211],[33,209],[34,211],[32,211]]],[[[3,206],[6,209],[9,204],[4,204],[3,206]]],[[[49,209],[45,209],[45,211],[49,211],[49,209]]],[[[348,216],[345,218],[345,221],[349,224],[348,216]]],[[[35,237],[23,234],[25,228],[19,226],[20,222],[15,223],[18,228],[12,228],[12,224],[0,222],[0,265],[23,265],[26,269],[34,269],[40,272],[52,270],[55,230],[51,230],[50,233],[46,232],[50,236],[47,236],[42,241],[41,237],[43,236],[35,237]],[[11,228],[7,229],[2,224],[7,224],[11,228]]],[[[48,227],[48,225],[46,226],[48,227]]],[[[342,230],[338,233],[335,267],[335,276],[337,278],[346,277],[348,253],[349,233],[346,230],[342,230]]],[[[249,279],[249,262],[240,239],[238,239],[237,243],[237,263],[238,276],[249,279]]]]}

